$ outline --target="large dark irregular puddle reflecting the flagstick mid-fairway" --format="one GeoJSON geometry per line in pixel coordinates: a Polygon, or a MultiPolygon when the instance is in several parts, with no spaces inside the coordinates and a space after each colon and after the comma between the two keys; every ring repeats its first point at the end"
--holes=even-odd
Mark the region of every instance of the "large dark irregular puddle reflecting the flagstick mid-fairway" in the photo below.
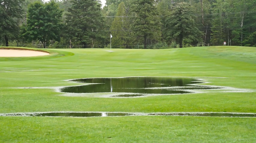
{"type": "Polygon", "coordinates": [[[85,78],[70,81],[86,83],[86,85],[64,87],[60,89],[61,92],[116,93],[111,97],[141,97],[162,94],[187,94],[195,93],[195,90],[222,88],[197,85],[204,83],[200,79],[178,77],[85,78]]]}

